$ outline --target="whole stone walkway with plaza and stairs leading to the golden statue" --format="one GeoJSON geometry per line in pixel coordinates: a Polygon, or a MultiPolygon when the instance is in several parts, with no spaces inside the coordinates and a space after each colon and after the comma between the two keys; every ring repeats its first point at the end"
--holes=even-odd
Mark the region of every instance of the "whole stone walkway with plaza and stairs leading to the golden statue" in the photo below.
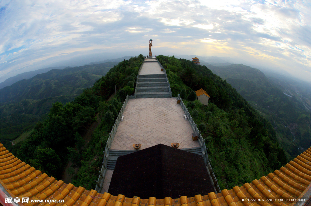
{"type": "MultiPolygon", "coordinates": [[[[123,112],[124,120],[118,126],[110,150],[122,153],[120,150],[135,151],[132,144],[142,144],[141,150],[157,144],[170,146],[171,143],[179,143],[179,149],[201,152],[198,141],[192,140],[193,130],[183,117],[184,112],[177,99],[154,98],[164,97],[161,95],[170,97],[167,81],[162,81],[163,78],[166,80],[156,59],[145,59],[139,73],[136,99],[128,100],[123,112]]],[[[116,158],[109,153],[111,168],[114,168],[116,158]]],[[[107,169],[101,193],[108,191],[113,171],[107,169]]]]}

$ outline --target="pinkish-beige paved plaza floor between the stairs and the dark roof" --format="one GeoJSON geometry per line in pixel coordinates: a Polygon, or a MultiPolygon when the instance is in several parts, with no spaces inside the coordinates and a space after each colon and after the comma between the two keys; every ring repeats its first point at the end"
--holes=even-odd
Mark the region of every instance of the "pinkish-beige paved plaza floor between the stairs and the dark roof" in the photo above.
{"type": "Polygon", "coordinates": [[[141,149],[145,149],[171,143],[180,143],[179,148],[199,147],[192,140],[193,130],[176,101],[175,98],[128,100],[111,149],[133,150],[132,144],[142,144],[141,149]]]}

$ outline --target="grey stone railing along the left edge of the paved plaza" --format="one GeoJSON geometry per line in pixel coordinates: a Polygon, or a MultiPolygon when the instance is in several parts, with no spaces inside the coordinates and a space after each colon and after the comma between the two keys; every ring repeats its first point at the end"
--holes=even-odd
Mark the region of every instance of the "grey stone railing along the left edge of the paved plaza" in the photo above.
{"type": "MultiPolygon", "coordinates": [[[[129,95],[128,95],[129,96],[129,95]]],[[[100,170],[100,175],[98,177],[98,180],[96,182],[96,187],[95,190],[100,192],[101,188],[103,187],[104,184],[104,179],[105,179],[105,175],[106,175],[106,171],[107,171],[107,164],[108,164],[108,157],[109,157],[109,150],[112,144],[112,141],[114,140],[114,136],[117,132],[118,126],[120,124],[123,112],[125,110],[126,105],[128,104],[128,96],[126,97],[126,99],[124,100],[124,103],[122,105],[122,108],[120,109],[119,115],[117,117],[117,119],[114,122],[114,126],[112,127],[111,132],[109,133],[109,137],[108,140],[106,141],[106,147],[105,147],[105,151],[104,151],[104,160],[103,160],[103,166],[101,167],[100,170]]]]}

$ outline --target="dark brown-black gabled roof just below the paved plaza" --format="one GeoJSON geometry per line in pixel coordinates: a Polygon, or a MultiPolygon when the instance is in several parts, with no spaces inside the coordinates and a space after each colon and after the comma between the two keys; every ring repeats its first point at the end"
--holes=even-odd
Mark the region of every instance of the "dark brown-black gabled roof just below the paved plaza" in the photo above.
{"type": "Polygon", "coordinates": [[[118,157],[108,193],[164,199],[213,191],[201,155],[158,144],[118,157]]]}

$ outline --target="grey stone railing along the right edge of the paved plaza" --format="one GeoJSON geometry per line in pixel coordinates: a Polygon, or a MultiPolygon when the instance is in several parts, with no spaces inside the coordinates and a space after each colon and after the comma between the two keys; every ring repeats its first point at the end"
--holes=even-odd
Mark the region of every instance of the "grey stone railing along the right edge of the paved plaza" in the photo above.
{"type": "Polygon", "coordinates": [[[207,168],[207,172],[210,176],[210,179],[211,179],[211,183],[214,187],[214,190],[215,190],[215,193],[220,193],[221,190],[220,190],[220,187],[218,185],[218,180],[214,174],[214,169],[212,169],[211,167],[211,163],[210,163],[210,159],[208,158],[208,155],[207,155],[207,149],[206,149],[206,146],[205,146],[205,142],[204,142],[204,139],[202,137],[202,135],[200,134],[201,132],[199,131],[199,129],[197,128],[197,125],[194,123],[193,121],[193,118],[191,117],[190,113],[188,112],[188,109],[186,108],[186,105],[183,103],[183,100],[180,98],[180,95],[178,94],[178,97],[177,97],[178,100],[180,100],[180,106],[183,108],[183,112],[185,112],[185,115],[186,117],[188,118],[188,121],[192,127],[192,130],[194,132],[196,132],[198,134],[198,143],[200,144],[200,147],[201,147],[201,150],[202,150],[202,153],[203,153],[203,158],[204,158],[204,163],[206,165],[206,168],[207,168]]]}

